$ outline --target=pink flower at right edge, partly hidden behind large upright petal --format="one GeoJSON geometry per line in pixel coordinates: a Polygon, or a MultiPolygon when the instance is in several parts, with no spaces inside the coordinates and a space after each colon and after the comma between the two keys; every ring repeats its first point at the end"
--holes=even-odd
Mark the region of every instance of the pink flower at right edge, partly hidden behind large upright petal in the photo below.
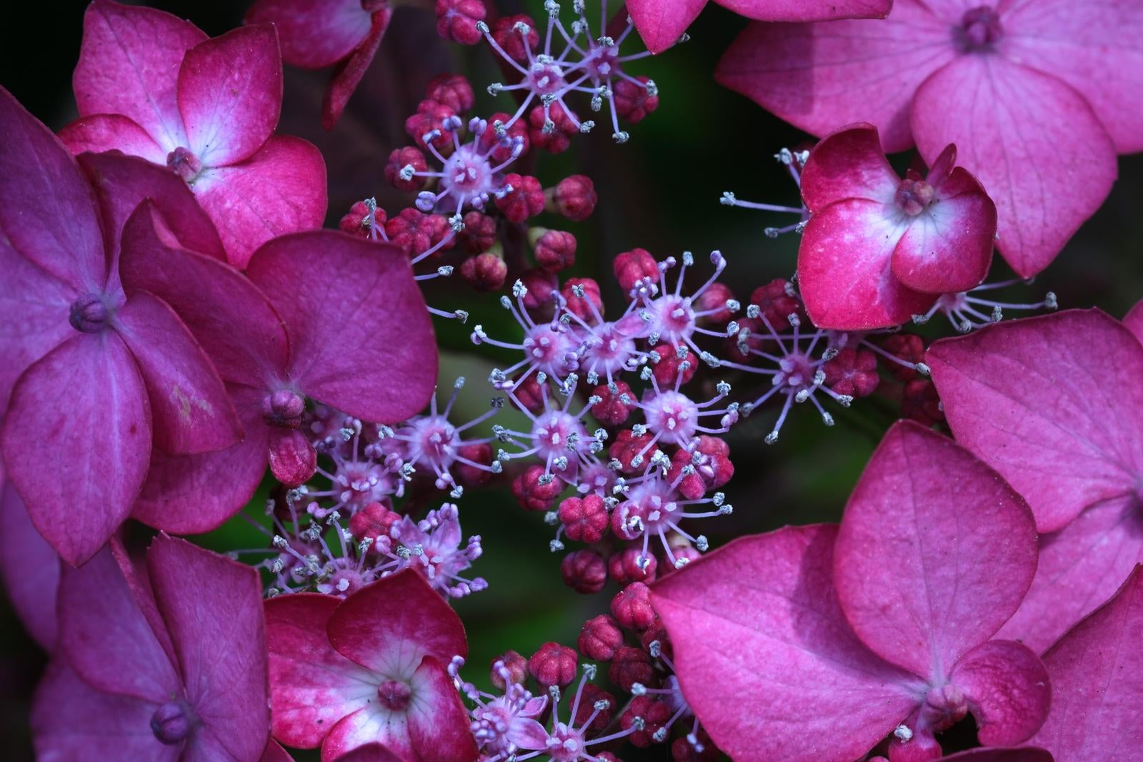
{"type": "Polygon", "coordinates": [[[1036,514],[1036,581],[1002,635],[1044,651],[1143,561],[1143,346],[1066,310],[938,341],[926,363],[957,440],[1036,514]]]}

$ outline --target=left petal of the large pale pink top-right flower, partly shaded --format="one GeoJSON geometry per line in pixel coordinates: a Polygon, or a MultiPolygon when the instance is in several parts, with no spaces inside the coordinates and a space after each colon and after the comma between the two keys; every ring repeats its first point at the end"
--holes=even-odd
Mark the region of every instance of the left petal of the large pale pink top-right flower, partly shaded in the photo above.
{"type": "Polygon", "coordinates": [[[956,56],[949,24],[906,1],[885,21],[751,24],[716,79],[814,135],[872,122],[894,152],[913,143],[909,106],[918,86],[956,56]]]}

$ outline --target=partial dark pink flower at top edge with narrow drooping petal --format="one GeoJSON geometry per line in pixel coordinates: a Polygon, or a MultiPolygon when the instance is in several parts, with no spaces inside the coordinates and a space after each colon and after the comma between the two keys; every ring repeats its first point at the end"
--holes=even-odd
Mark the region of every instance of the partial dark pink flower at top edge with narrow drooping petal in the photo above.
{"type": "Polygon", "coordinates": [[[393,9],[386,0],[257,0],[247,24],[273,24],[282,61],[302,69],[334,66],[321,104],[321,126],[333,129],[377,54],[393,9]]]}

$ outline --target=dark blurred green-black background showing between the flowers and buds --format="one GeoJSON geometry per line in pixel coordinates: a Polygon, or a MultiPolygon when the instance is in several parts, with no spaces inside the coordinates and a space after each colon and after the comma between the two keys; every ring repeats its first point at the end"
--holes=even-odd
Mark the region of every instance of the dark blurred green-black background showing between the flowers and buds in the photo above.
{"type": "MultiPolygon", "coordinates": [[[[543,18],[538,0],[496,3],[502,15],[530,13],[543,18]]],[[[7,2],[0,10],[0,84],[53,129],[75,117],[71,72],[86,5],[7,2]]],[[[248,6],[221,0],[146,5],[190,18],[211,35],[237,26],[248,6]]],[[[594,18],[591,11],[589,16],[594,18]]],[[[708,6],[690,30],[690,41],[628,68],[629,73],[652,77],[660,87],[658,110],[629,128],[628,144],[614,144],[609,130],[600,128],[581,136],[563,154],[543,152],[529,169],[545,185],[574,173],[594,181],[599,205],[586,222],[542,217],[539,223],[576,236],[577,261],[563,276],[596,278],[613,310],[622,309],[622,295],[612,280],[612,257],[634,247],[647,248],[660,259],[693,251],[701,263],[696,278],[702,279],[709,273],[702,268],[705,254],[720,249],[730,261],[724,280],[743,301],[757,286],[793,273],[797,235],[769,239],[762,233],[766,227],[791,220],[718,203],[724,191],[734,191],[741,199],[797,206],[797,189],[773,154],[808,141],[807,135],[713,81],[721,51],[745,23],[713,3],[708,6]]],[[[631,40],[624,53],[640,49],[636,35],[631,40]]],[[[336,225],[350,205],[369,196],[376,196],[391,214],[411,205],[411,197],[386,185],[382,170],[390,151],[411,143],[403,132],[405,119],[415,112],[426,82],[442,72],[470,78],[478,98],[475,114],[514,110],[509,96],[491,98],[485,92],[489,82],[503,79],[489,48],[445,42],[435,34],[431,10],[411,7],[394,14],[381,51],[333,132],[320,126],[328,72],[286,70],[279,132],[304,137],[322,150],[329,172],[329,227],[336,225]]],[[[901,160],[908,164],[910,158],[901,160]]],[[[1007,301],[1039,301],[1050,289],[1061,308],[1097,305],[1120,317],[1143,297],[1143,156],[1121,158],[1119,175],[1111,198],[1047,272],[1033,285],[1002,292],[1007,301]]],[[[1008,277],[1010,271],[997,257],[989,279],[1008,277]]],[[[472,315],[469,326],[437,322],[442,388],[449,389],[457,375],[469,379],[454,416],[455,422],[463,422],[487,410],[491,392],[483,379],[505,358],[487,348],[475,354],[469,341],[472,323],[483,324],[489,335],[497,338],[517,336],[518,332],[506,322],[507,315],[494,295],[474,294],[461,283],[449,287],[438,281],[429,301],[472,315]]],[[[926,332],[948,335],[951,330],[934,319],[926,332]]],[[[773,446],[762,443],[773,427],[772,410],[761,410],[735,428],[727,439],[736,476],[725,489],[735,513],[703,523],[701,531],[711,545],[789,523],[837,519],[866,458],[897,415],[893,389],[886,387],[886,394],[858,400],[848,411],[831,407],[837,418],[832,428],[825,428],[808,405],[797,407],[773,446]]],[[[498,422],[509,424],[503,419],[498,422]]],[[[261,516],[264,500],[264,494],[255,498],[250,516],[261,516]]],[[[485,555],[473,573],[489,582],[489,589],[457,603],[469,632],[469,680],[487,683],[486,665],[507,649],[527,656],[546,641],[575,645],[584,620],[607,610],[614,586],[593,596],[565,587],[559,571],[561,554],[552,554],[547,547],[553,527],[544,524],[542,514],[520,510],[506,484],[466,493],[461,501],[461,521],[465,534],[483,538],[485,555]]],[[[264,545],[264,538],[241,517],[197,541],[218,550],[264,545]]],[[[27,708],[43,661],[0,598],[5,759],[32,757],[27,708]]],[[[668,756],[666,747],[649,749],[642,756],[624,754],[628,760],[668,756]]]]}

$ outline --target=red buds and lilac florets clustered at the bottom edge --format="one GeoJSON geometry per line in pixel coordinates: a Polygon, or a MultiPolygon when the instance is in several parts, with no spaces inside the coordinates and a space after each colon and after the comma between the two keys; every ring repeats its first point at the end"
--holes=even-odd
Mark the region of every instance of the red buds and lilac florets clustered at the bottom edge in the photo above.
{"type": "Polygon", "coordinates": [[[577,649],[552,642],[528,658],[507,651],[494,659],[490,677],[499,692],[465,682],[463,666],[453,659],[449,674],[472,705],[472,732],[487,762],[542,755],[620,762],[601,749],[621,740],[637,748],[670,743],[676,762],[718,759],[679,689],[666,630],[641,582],[615,597],[612,614],[584,624],[577,649]],[[600,668],[615,693],[593,682],[600,668]]]}

